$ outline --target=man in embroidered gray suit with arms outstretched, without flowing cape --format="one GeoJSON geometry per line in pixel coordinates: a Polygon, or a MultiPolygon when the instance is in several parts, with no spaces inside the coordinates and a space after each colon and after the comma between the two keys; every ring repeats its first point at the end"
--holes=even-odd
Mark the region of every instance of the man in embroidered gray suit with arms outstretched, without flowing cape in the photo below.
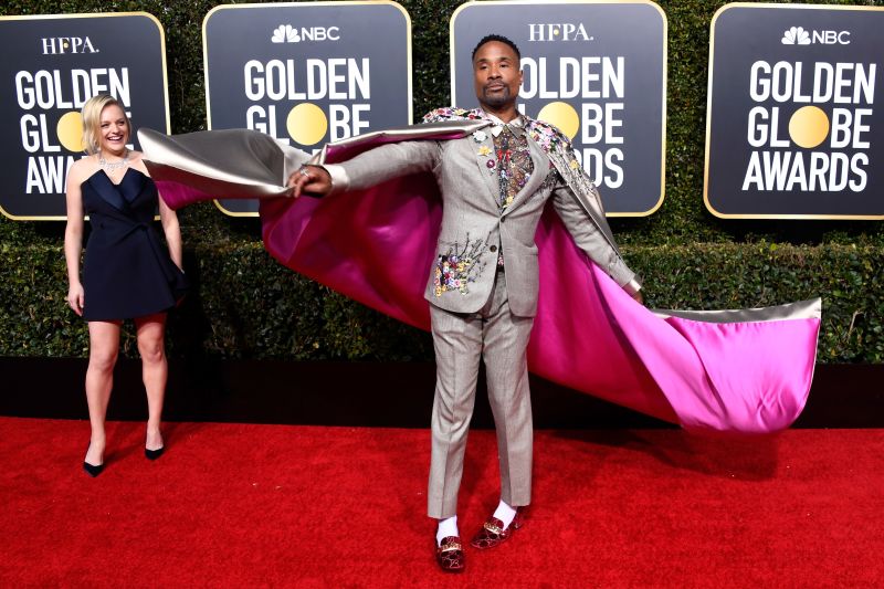
{"type": "Polygon", "coordinates": [[[560,132],[520,115],[519,52],[488,35],[473,51],[481,108],[442,108],[427,122],[485,120],[472,135],[450,140],[406,140],[338,164],[305,166],[288,185],[303,192],[337,193],[397,176],[431,171],[443,200],[430,302],[436,359],[428,511],[439,519],[436,560],[461,571],[457,490],[475,400],[480,358],[497,430],[501,503],[473,537],[476,548],[508,539],[530,503],[532,406],[527,345],[537,309],[535,233],[552,198],[577,245],[641,302],[640,285],[623,263],[601,211],[598,191],[560,132]]]}

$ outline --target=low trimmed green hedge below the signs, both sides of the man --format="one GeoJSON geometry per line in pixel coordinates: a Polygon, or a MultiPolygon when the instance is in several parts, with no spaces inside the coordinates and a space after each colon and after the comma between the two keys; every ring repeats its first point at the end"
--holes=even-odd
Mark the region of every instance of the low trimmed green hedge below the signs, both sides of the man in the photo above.
{"type": "MultiPolygon", "coordinates": [[[[819,359],[884,361],[884,256],[876,246],[720,243],[629,246],[656,308],[736,308],[824,294],[819,359]],[[698,303],[702,302],[702,303],[698,303]]],[[[0,356],[82,356],[59,246],[3,246],[0,356]]],[[[298,360],[432,358],[429,336],[277,264],[260,244],[199,248],[197,283],[172,315],[172,356],[298,360]]],[[[127,351],[135,349],[129,336],[127,351]]]]}

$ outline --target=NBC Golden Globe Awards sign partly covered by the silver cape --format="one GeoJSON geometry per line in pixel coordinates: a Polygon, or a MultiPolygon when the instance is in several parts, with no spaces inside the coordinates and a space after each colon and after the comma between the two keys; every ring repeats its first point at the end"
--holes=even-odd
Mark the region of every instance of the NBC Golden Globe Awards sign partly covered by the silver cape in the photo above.
{"type": "MultiPolygon", "coordinates": [[[[411,20],[396,2],[222,6],[203,22],[209,128],[317,151],[411,124],[411,20]]],[[[232,215],[253,201],[222,200],[232,215]]]]}

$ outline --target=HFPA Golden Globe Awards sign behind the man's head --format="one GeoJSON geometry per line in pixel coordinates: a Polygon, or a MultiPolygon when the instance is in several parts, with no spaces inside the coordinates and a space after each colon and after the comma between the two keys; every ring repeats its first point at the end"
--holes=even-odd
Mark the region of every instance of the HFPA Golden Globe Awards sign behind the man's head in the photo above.
{"type": "Polygon", "coordinates": [[[471,56],[512,39],[524,74],[517,108],[571,138],[611,217],[663,202],[666,18],[650,1],[467,2],[451,19],[456,106],[476,106],[471,56]]]}

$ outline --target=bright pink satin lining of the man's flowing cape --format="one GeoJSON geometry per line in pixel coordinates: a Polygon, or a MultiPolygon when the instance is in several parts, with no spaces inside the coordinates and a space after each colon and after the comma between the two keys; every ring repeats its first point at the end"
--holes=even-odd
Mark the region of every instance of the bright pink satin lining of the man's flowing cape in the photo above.
{"type": "MultiPolygon", "coordinates": [[[[352,147],[326,147],[329,162],[354,155],[352,147]]],[[[158,180],[173,209],[214,198],[158,180]]],[[[432,176],[415,175],[324,199],[265,198],[260,212],[264,245],[282,264],[429,329],[423,292],[441,207],[432,176]]],[[[692,431],[768,433],[800,414],[813,377],[819,299],[739,312],[740,320],[728,312],[661,316],[590,262],[550,209],[536,241],[535,375],[692,431]]]]}

